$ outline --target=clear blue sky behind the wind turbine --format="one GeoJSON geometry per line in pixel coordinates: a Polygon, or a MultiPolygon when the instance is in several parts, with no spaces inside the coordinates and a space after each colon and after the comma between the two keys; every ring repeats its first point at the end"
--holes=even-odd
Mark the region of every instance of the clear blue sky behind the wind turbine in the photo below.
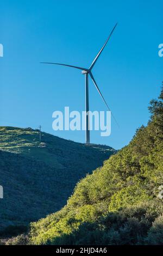
{"type": "MultiPolygon", "coordinates": [[[[0,43],[0,125],[37,128],[77,142],[84,131],[52,130],[52,112],[83,111],[80,70],[39,62],[89,67],[110,30],[116,31],[93,68],[112,120],[110,137],[91,132],[91,142],[116,149],[126,145],[149,119],[148,103],[160,93],[163,58],[163,2],[160,1],[2,1],[0,43]]],[[[90,82],[90,109],[106,110],[90,82]]]]}

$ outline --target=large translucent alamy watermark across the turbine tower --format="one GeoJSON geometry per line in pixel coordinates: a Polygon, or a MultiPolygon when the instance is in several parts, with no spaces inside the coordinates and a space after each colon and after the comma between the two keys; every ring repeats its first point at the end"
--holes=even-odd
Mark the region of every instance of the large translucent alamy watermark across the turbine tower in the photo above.
{"type": "Polygon", "coordinates": [[[111,112],[110,111],[82,111],[82,115],[78,111],[71,111],[69,107],[65,107],[65,113],[54,111],[52,127],[54,131],[85,131],[86,121],[88,118],[88,130],[101,131],[101,136],[110,136],[111,134],[111,112]]]}

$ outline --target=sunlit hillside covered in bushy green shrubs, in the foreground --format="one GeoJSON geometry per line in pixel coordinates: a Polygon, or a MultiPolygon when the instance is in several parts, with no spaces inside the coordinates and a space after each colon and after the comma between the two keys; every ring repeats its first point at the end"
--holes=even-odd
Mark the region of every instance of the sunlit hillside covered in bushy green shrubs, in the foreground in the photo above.
{"type": "Polygon", "coordinates": [[[63,209],[7,244],[163,245],[162,99],[163,89],[151,102],[147,127],[80,181],[63,209]]]}

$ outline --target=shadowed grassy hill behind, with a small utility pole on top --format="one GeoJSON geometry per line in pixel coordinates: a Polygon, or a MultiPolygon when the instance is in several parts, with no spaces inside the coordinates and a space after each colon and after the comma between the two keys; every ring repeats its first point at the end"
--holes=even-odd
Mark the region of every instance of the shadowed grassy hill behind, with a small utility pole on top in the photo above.
{"type": "Polygon", "coordinates": [[[0,235],[8,225],[26,225],[66,204],[79,179],[116,150],[87,146],[30,128],[0,127],[0,235]]]}

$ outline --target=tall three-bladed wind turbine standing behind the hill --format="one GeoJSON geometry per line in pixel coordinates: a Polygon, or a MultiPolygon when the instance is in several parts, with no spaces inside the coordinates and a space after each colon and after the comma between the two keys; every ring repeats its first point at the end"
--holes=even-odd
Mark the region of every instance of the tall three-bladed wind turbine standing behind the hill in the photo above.
{"type": "MultiPolygon", "coordinates": [[[[110,111],[110,108],[109,108],[108,104],[106,103],[102,93],[100,92],[100,90],[99,90],[99,88],[97,86],[97,83],[95,81],[95,78],[92,75],[92,68],[95,65],[95,63],[97,62],[97,59],[99,58],[100,54],[102,53],[105,45],[107,44],[108,40],[110,39],[110,37],[111,37],[112,33],[114,32],[114,29],[116,28],[116,26],[117,26],[117,23],[114,26],[114,28],[112,29],[112,31],[111,31],[110,35],[108,36],[107,40],[105,41],[105,44],[103,45],[101,50],[99,50],[99,52],[97,53],[97,56],[93,60],[93,62],[90,65],[89,69],[81,68],[80,66],[72,66],[72,65],[62,64],[62,63],[41,62],[41,63],[44,63],[44,64],[55,64],[55,65],[69,66],[70,68],[80,69],[80,70],[82,70],[82,74],[85,75],[85,124],[86,124],[85,139],[86,139],[86,144],[90,143],[90,130],[89,130],[89,75],[90,75],[93,83],[95,84],[95,87],[98,90],[99,95],[102,97],[103,101],[105,102],[106,107],[110,111]]],[[[113,115],[112,115],[112,117],[114,118],[113,115]]],[[[116,119],[115,119],[115,121],[116,121],[116,119]]],[[[117,123],[117,121],[116,121],[116,123],[117,123]]]]}

